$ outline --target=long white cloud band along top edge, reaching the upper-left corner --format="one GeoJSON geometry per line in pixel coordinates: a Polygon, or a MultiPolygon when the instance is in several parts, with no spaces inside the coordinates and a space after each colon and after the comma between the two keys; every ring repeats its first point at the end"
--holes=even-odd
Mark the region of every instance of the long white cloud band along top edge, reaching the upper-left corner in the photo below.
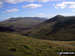
{"type": "Polygon", "coordinates": [[[49,1],[61,1],[61,0],[0,0],[0,7],[2,7],[4,2],[11,3],[11,4],[16,4],[16,3],[21,3],[21,2],[34,2],[34,1],[49,2],[49,1]]]}

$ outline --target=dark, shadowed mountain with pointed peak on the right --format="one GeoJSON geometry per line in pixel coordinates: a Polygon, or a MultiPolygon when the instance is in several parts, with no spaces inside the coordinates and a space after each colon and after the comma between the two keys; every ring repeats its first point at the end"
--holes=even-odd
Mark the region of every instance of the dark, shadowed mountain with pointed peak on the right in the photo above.
{"type": "Polygon", "coordinates": [[[75,40],[75,16],[57,15],[25,31],[23,35],[47,40],[75,40]]]}

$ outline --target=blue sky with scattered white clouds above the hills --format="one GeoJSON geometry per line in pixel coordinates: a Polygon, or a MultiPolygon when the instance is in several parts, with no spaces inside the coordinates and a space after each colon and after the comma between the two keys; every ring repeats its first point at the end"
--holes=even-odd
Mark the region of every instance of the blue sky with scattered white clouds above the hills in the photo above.
{"type": "Polygon", "coordinates": [[[0,21],[11,17],[75,16],[75,0],[0,0],[0,21]]]}

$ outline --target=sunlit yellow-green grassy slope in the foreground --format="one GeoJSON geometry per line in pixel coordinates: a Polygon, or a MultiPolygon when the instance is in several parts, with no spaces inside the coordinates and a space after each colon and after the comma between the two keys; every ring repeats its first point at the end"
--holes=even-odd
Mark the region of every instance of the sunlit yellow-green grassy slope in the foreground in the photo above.
{"type": "Polygon", "coordinates": [[[0,56],[59,56],[58,51],[75,51],[75,41],[39,40],[0,33],[0,56]]]}

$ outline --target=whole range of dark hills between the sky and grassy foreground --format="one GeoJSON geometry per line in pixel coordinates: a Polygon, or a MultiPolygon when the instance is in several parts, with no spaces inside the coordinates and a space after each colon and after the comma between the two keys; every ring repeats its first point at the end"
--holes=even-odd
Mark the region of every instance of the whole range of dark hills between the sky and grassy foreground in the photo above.
{"type": "Polygon", "coordinates": [[[47,40],[75,40],[75,16],[56,15],[45,19],[18,17],[0,22],[0,32],[18,32],[25,36],[47,40]]]}

